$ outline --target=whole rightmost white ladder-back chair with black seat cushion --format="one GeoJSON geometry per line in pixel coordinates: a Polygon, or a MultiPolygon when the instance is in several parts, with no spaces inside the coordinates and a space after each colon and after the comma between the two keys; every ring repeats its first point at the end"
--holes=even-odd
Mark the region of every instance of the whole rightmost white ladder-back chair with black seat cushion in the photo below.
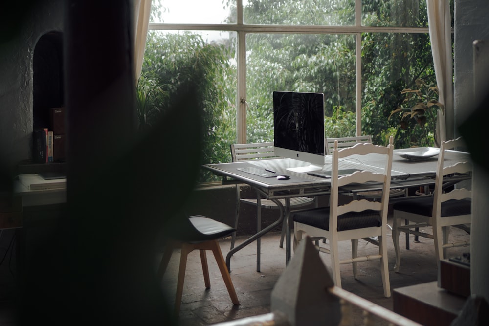
{"type": "Polygon", "coordinates": [[[469,162],[458,162],[451,166],[444,166],[445,151],[463,145],[461,138],[442,142],[438,155],[433,196],[404,200],[394,204],[392,231],[392,240],[396,251],[394,271],[399,272],[400,267],[400,232],[434,239],[438,263],[446,256],[446,248],[469,244],[469,241],[448,243],[448,235],[450,226],[467,231],[467,224],[471,222],[472,192],[466,188],[457,187],[452,191],[444,191],[447,180],[445,176],[472,172],[472,164],[469,162]],[[403,219],[408,220],[409,223],[402,225],[403,219]],[[432,227],[433,232],[431,234],[418,231],[418,228],[427,226],[432,227]]]}

